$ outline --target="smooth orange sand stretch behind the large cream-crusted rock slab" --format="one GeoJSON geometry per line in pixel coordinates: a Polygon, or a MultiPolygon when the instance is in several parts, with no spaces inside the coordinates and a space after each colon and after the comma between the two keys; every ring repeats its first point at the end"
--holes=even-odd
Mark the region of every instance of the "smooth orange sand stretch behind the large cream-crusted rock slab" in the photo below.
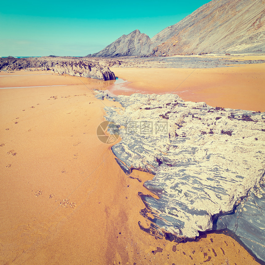
{"type": "Polygon", "coordinates": [[[116,95],[176,93],[213,107],[265,111],[265,63],[208,69],[111,68],[129,83],[111,86],[116,95]]]}

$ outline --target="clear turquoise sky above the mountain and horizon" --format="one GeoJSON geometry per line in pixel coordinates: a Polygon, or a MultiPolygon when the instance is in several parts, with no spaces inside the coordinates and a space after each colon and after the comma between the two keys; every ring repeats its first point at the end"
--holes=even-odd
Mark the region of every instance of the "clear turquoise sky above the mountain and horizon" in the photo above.
{"type": "Polygon", "coordinates": [[[152,38],[207,2],[2,1],[0,57],[93,54],[136,29],[152,38]]]}

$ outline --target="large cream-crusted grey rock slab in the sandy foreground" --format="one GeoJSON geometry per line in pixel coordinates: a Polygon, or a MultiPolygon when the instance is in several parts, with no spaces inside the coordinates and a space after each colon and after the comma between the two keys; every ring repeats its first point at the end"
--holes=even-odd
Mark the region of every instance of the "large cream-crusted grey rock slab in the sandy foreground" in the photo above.
{"type": "MultiPolygon", "coordinates": [[[[96,97],[109,98],[104,93],[96,97]]],[[[154,174],[144,186],[159,199],[139,194],[146,205],[141,214],[149,220],[147,225],[139,223],[143,230],[176,241],[192,240],[199,232],[217,229],[216,220],[233,213],[251,192],[263,198],[259,188],[265,174],[265,113],[212,108],[173,94],[114,100],[125,108],[104,108],[106,120],[116,124],[109,132],[122,138],[112,146],[116,161],[127,174],[132,169],[154,174]]],[[[243,211],[247,214],[248,208],[243,211]]],[[[258,215],[256,222],[264,224],[264,208],[258,215]]],[[[251,217],[243,226],[246,222],[252,223],[251,217]]],[[[260,246],[263,227],[255,226],[251,237],[259,238],[257,244],[246,246],[260,246]]]]}

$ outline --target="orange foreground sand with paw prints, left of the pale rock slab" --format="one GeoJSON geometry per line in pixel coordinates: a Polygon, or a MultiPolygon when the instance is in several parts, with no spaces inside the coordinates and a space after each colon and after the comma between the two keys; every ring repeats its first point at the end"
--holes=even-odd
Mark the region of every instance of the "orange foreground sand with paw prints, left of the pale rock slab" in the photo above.
{"type": "Polygon", "coordinates": [[[258,264],[225,234],[174,243],[140,230],[153,176],[129,178],[96,136],[103,107],[119,104],[89,89],[109,82],[23,78],[0,83],[69,85],[0,89],[0,264],[258,264]]]}

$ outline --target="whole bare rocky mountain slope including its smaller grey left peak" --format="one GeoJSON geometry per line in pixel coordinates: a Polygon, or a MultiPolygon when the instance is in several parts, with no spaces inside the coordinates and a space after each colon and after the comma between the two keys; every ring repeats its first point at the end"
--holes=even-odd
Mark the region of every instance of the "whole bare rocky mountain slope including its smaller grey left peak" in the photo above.
{"type": "Polygon", "coordinates": [[[135,30],[99,57],[265,52],[265,0],[213,0],[152,39],[135,30]]]}

